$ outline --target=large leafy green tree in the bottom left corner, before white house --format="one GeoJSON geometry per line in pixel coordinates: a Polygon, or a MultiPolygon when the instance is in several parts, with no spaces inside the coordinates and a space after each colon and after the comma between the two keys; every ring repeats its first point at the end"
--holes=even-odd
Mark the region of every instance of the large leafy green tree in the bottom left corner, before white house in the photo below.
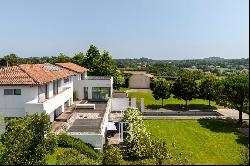
{"type": "Polygon", "coordinates": [[[49,116],[45,113],[10,120],[1,137],[5,147],[1,164],[45,164],[45,156],[56,146],[50,129],[49,116]]]}

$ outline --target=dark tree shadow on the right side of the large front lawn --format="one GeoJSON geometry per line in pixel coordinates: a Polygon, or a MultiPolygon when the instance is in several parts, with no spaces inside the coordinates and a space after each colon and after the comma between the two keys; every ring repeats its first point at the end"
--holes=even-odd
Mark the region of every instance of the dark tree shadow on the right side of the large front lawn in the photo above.
{"type": "Polygon", "coordinates": [[[248,145],[249,138],[241,134],[236,128],[240,127],[234,119],[199,119],[198,122],[204,128],[213,132],[234,133],[237,135],[237,143],[248,145]]]}

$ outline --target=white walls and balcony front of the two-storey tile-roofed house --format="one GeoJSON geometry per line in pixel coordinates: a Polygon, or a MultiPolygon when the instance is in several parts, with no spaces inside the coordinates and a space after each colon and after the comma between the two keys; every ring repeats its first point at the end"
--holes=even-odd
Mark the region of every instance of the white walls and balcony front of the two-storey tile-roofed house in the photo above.
{"type": "Polygon", "coordinates": [[[61,81],[59,94],[53,94],[53,82],[49,85],[48,96],[44,102],[38,101],[38,86],[0,86],[0,112],[5,117],[22,117],[26,113],[42,113],[46,112],[54,120],[54,110],[61,106],[64,111],[64,103],[69,101],[69,105],[73,103],[73,79],[64,83],[61,81]],[[4,95],[4,89],[21,89],[21,95],[4,95]]]}

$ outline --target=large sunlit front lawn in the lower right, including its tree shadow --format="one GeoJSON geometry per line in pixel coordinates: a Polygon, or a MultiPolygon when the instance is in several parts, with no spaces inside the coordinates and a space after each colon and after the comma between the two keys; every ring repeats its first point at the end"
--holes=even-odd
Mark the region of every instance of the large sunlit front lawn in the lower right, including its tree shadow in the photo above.
{"type": "Polygon", "coordinates": [[[242,164],[248,138],[225,120],[145,120],[147,129],[165,140],[171,164],[242,164]]]}

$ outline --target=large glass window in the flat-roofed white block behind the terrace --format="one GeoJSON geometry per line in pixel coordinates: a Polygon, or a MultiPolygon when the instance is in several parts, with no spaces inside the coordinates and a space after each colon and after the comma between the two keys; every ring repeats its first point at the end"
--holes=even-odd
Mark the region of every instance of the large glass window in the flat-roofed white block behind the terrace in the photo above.
{"type": "Polygon", "coordinates": [[[92,99],[93,100],[108,100],[110,97],[110,88],[108,87],[93,87],[92,99]]]}

